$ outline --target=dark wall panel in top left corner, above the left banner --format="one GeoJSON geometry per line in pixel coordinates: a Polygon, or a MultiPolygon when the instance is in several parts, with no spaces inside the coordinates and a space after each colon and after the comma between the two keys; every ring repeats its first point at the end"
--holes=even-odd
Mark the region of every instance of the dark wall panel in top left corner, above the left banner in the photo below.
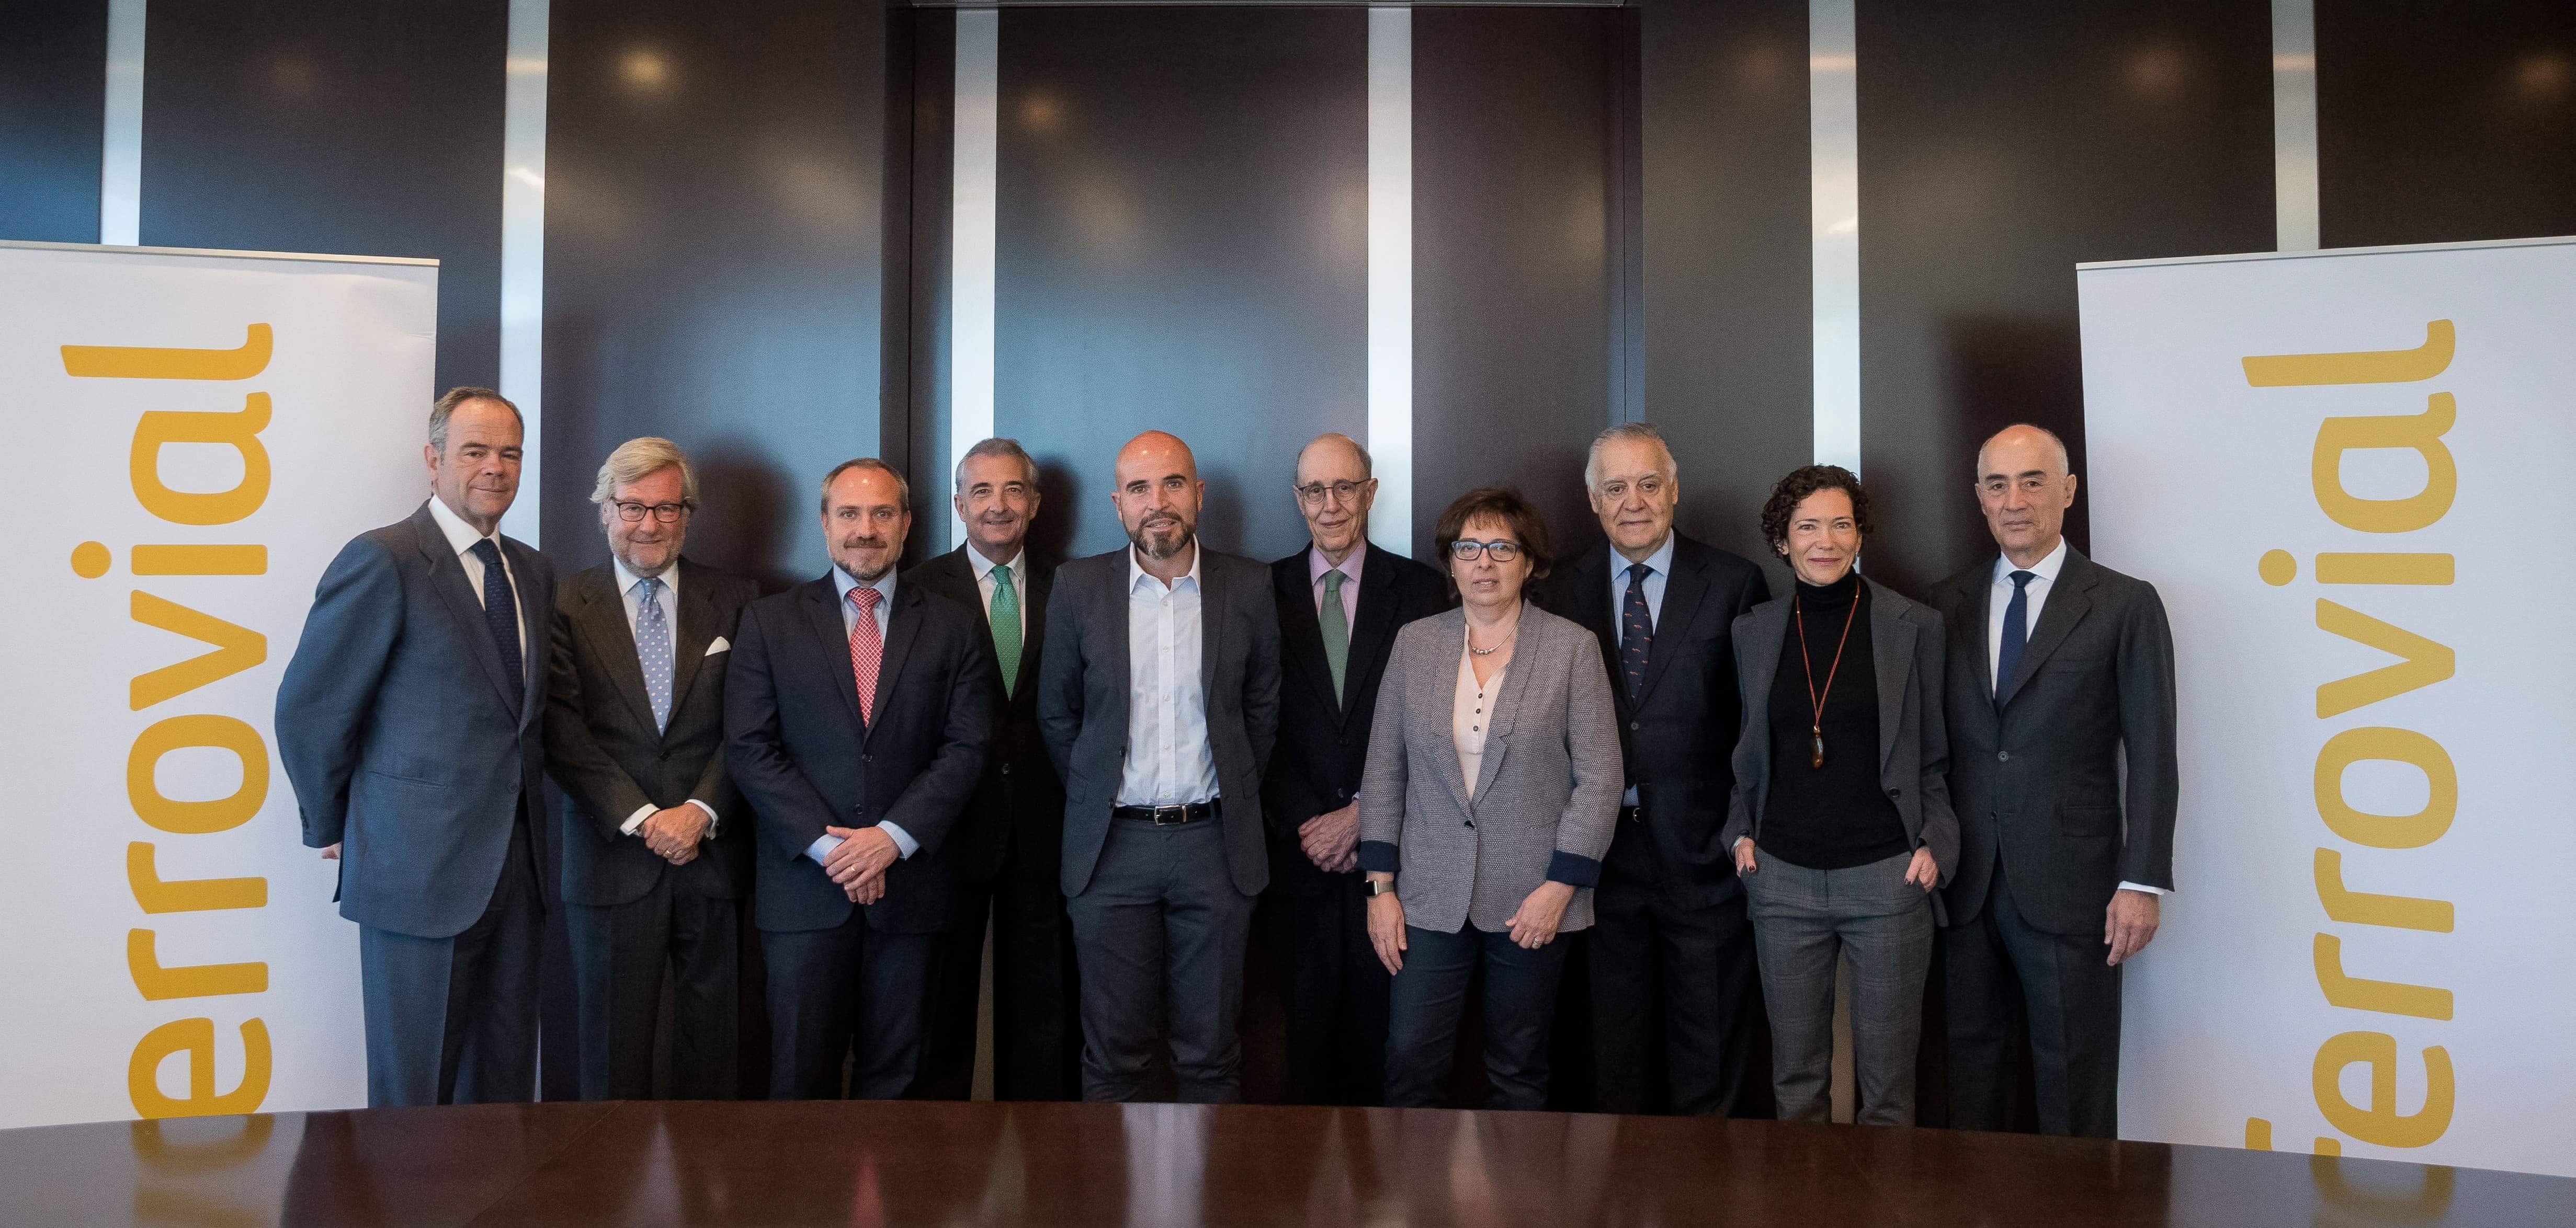
{"type": "Polygon", "coordinates": [[[98,242],[108,0],[0,0],[0,239],[98,242]]]}

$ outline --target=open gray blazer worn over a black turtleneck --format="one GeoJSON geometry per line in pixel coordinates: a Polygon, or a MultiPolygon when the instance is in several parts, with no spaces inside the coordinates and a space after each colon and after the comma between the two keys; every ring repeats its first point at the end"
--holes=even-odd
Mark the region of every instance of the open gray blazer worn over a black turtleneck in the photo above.
{"type": "MultiPolygon", "coordinates": [[[[1870,587],[1870,667],[1878,672],[1878,783],[1906,821],[1906,839],[1932,850],[1940,880],[1958,870],[1958,816],[1950,814],[1950,731],[1942,713],[1942,620],[1929,605],[1860,577],[1870,587]]],[[[1744,687],[1744,736],[1736,739],[1736,793],[1726,806],[1726,850],[1754,837],[1762,847],[1762,803],[1770,795],[1770,685],[1788,644],[1788,597],[1736,618],[1736,677],[1744,687]]],[[[1759,862],[1757,862],[1759,865],[1759,862]]],[[[1940,911],[1940,896],[1932,898],[1940,911]]]]}

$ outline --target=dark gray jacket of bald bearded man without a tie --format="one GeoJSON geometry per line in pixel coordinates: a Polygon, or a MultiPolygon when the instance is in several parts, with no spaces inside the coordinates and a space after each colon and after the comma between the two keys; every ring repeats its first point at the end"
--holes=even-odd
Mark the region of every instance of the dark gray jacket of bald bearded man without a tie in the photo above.
{"type": "MultiPolygon", "coordinates": [[[[1198,685],[1208,705],[1226,870],[1247,896],[1270,886],[1262,847],[1262,770],[1280,726],[1280,615],[1270,566],[1198,543],[1198,685]]],[[[1064,893],[1079,896],[1110,839],[1126,777],[1128,548],[1056,569],[1038,667],[1038,731],[1064,777],[1064,893]]]]}

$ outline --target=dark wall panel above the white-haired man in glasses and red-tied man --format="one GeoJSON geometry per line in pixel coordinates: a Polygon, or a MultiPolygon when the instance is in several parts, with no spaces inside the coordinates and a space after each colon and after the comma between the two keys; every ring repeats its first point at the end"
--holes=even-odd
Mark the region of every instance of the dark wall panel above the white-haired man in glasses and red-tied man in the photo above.
{"type": "Polygon", "coordinates": [[[590,487],[636,435],[701,466],[690,554],[827,566],[817,481],[881,438],[886,49],[878,3],[554,3],[544,512],[567,566],[608,556],[590,487]]]}

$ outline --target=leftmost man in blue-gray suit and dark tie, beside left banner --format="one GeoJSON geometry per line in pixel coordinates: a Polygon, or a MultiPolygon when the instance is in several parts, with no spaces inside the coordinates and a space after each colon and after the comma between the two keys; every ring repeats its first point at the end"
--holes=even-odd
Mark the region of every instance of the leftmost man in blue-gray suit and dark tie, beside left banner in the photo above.
{"type": "Polygon", "coordinates": [[[278,682],[304,844],[358,922],[368,1104],[536,1094],[554,566],[500,535],[520,433],[492,389],[438,399],[430,499],[340,548],[278,682]]]}

